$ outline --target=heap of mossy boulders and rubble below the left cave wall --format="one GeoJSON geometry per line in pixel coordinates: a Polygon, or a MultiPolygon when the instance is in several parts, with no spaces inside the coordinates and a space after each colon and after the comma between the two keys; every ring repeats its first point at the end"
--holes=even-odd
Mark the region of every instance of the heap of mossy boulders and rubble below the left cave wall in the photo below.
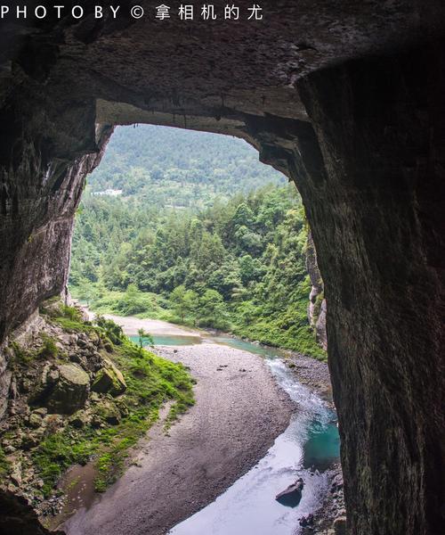
{"type": "Polygon", "coordinates": [[[91,324],[74,322],[83,326],[84,332],[64,329],[57,321],[61,310],[61,300],[45,301],[42,315],[36,314],[29,325],[14,331],[0,353],[8,362],[14,385],[14,395],[6,399],[0,420],[0,528],[8,528],[2,533],[46,533],[36,514],[57,514],[63,504],[63,497],[51,496],[51,485],[57,482],[59,461],[60,476],[67,467],[70,447],[81,441],[81,434],[75,431],[86,425],[90,432],[105,429],[128,415],[125,400],[110,396],[111,391],[118,396],[125,380],[105,350],[108,338],[91,324]],[[48,312],[53,317],[47,316],[48,312]],[[93,392],[90,385],[98,373],[93,370],[101,369],[112,370],[113,382],[102,393],[93,392]],[[70,440],[65,440],[65,447],[61,447],[63,433],[70,440]],[[48,443],[55,435],[59,441],[48,443]],[[58,451],[61,457],[52,464],[45,457],[46,448],[58,451]],[[44,457],[43,465],[36,456],[44,457]],[[55,479],[45,487],[54,471],[55,479]],[[6,496],[12,501],[4,501],[6,496]],[[6,503],[11,507],[8,514],[2,508],[6,503]],[[17,507],[23,508],[21,520],[16,518],[17,507]]]}

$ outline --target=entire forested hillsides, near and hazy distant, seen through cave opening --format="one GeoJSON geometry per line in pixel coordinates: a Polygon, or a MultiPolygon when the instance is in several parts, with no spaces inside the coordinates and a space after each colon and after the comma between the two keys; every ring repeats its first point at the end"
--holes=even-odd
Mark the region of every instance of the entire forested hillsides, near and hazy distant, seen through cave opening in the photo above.
{"type": "Polygon", "coordinates": [[[295,186],[259,163],[246,143],[121,128],[77,213],[70,289],[101,313],[212,327],[324,358],[307,319],[306,241],[295,186]],[[172,158],[159,146],[151,152],[157,139],[172,158]],[[130,145],[138,179],[128,171],[130,145]],[[162,176],[179,169],[181,178],[171,171],[165,182],[153,168],[162,176]],[[124,191],[97,194],[107,189],[124,191]]]}

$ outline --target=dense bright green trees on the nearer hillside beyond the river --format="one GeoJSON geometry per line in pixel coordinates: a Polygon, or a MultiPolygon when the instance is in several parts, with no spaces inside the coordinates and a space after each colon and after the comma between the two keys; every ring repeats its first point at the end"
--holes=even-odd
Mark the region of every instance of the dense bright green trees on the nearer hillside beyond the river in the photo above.
{"type": "MultiPolygon", "coordinates": [[[[252,152],[247,144],[244,149],[252,152]]],[[[251,178],[248,172],[242,170],[251,178]]],[[[125,197],[87,191],[73,240],[72,292],[102,313],[215,327],[324,358],[307,320],[303,206],[295,187],[273,184],[270,172],[271,185],[231,198],[199,190],[195,206],[182,210],[171,205],[178,206],[187,186],[176,185],[166,204],[158,196],[163,186],[151,177],[125,197]],[[145,202],[142,192],[149,190],[158,206],[145,202]]],[[[235,173],[214,186],[230,193],[238,178],[235,173]]],[[[97,189],[95,179],[90,183],[97,189]]],[[[101,188],[116,188],[117,180],[107,180],[101,188]]]]}

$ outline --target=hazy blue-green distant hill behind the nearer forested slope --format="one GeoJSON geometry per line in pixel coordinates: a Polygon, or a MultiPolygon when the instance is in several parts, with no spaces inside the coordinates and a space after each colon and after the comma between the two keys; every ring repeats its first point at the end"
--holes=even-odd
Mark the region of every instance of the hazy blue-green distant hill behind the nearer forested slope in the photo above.
{"type": "Polygon", "coordinates": [[[180,128],[118,127],[101,165],[88,177],[91,193],[122,190],[148,204],[203,208],[263,185],[284,185],[241,139],[180,128]]]}

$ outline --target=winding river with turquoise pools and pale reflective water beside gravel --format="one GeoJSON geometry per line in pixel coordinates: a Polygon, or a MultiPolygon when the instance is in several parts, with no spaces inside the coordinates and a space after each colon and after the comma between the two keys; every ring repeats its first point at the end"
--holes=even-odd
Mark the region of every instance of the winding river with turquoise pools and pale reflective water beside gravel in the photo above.
{"type": "MultiPolygon", "coordinates": [[[[162,345],[180,342],[176,336],[162,340],[162,345]]],[[[336,414],[319,396],[295,382],[295,375],[280,358],[283,351],[229,336],[213,336],[204,342],[261,355],[297,410],[287,430],[254,468],[212,504],[177,524],[169,535],[297,535],[301,531],[298,519],[320,507],[329,490],[328,468],[339,460],[336,414]],[[275,496],[299,477],[304,481],[301,500],[292,506],[276,501],[275,496]]]]}

